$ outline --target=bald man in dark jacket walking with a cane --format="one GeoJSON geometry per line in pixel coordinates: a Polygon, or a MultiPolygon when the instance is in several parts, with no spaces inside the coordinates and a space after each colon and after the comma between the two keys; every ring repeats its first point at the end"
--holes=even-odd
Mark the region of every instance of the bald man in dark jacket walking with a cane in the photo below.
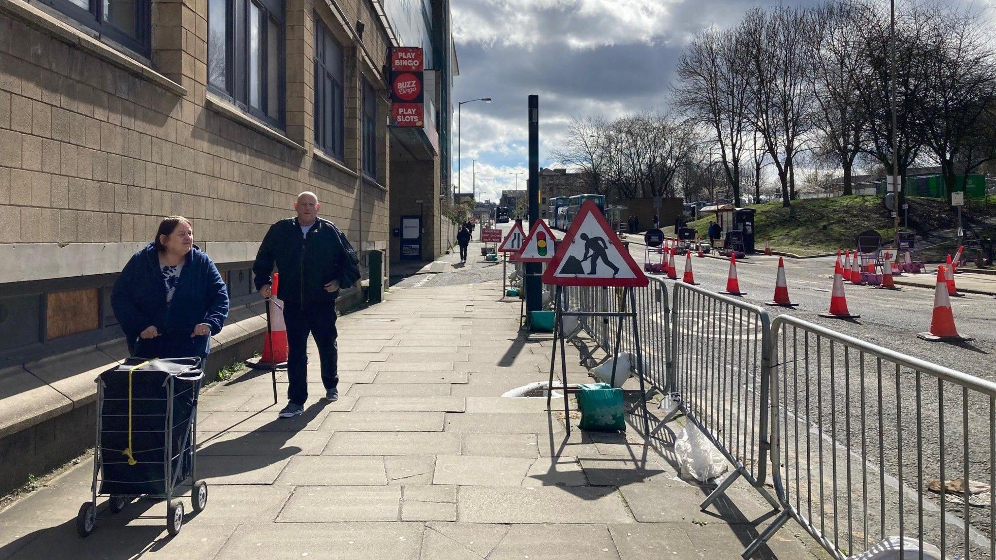
{"type": "Polygon", "coordinates": [[[360,280],[353,245],[334,223],[318,217],[322,209],[314,192],[298,195],[298,215],[270,226],[256,253],[256,289],[270,297],[271,275],[280,272],[280,298],[287,324],[287,407],[281,418],[304,413],[308,400],[308,335],[315,337],[322,363],[327,401],[339,400],[339,351],[336,344],[336,298],[340,288],[360,280]]]}

